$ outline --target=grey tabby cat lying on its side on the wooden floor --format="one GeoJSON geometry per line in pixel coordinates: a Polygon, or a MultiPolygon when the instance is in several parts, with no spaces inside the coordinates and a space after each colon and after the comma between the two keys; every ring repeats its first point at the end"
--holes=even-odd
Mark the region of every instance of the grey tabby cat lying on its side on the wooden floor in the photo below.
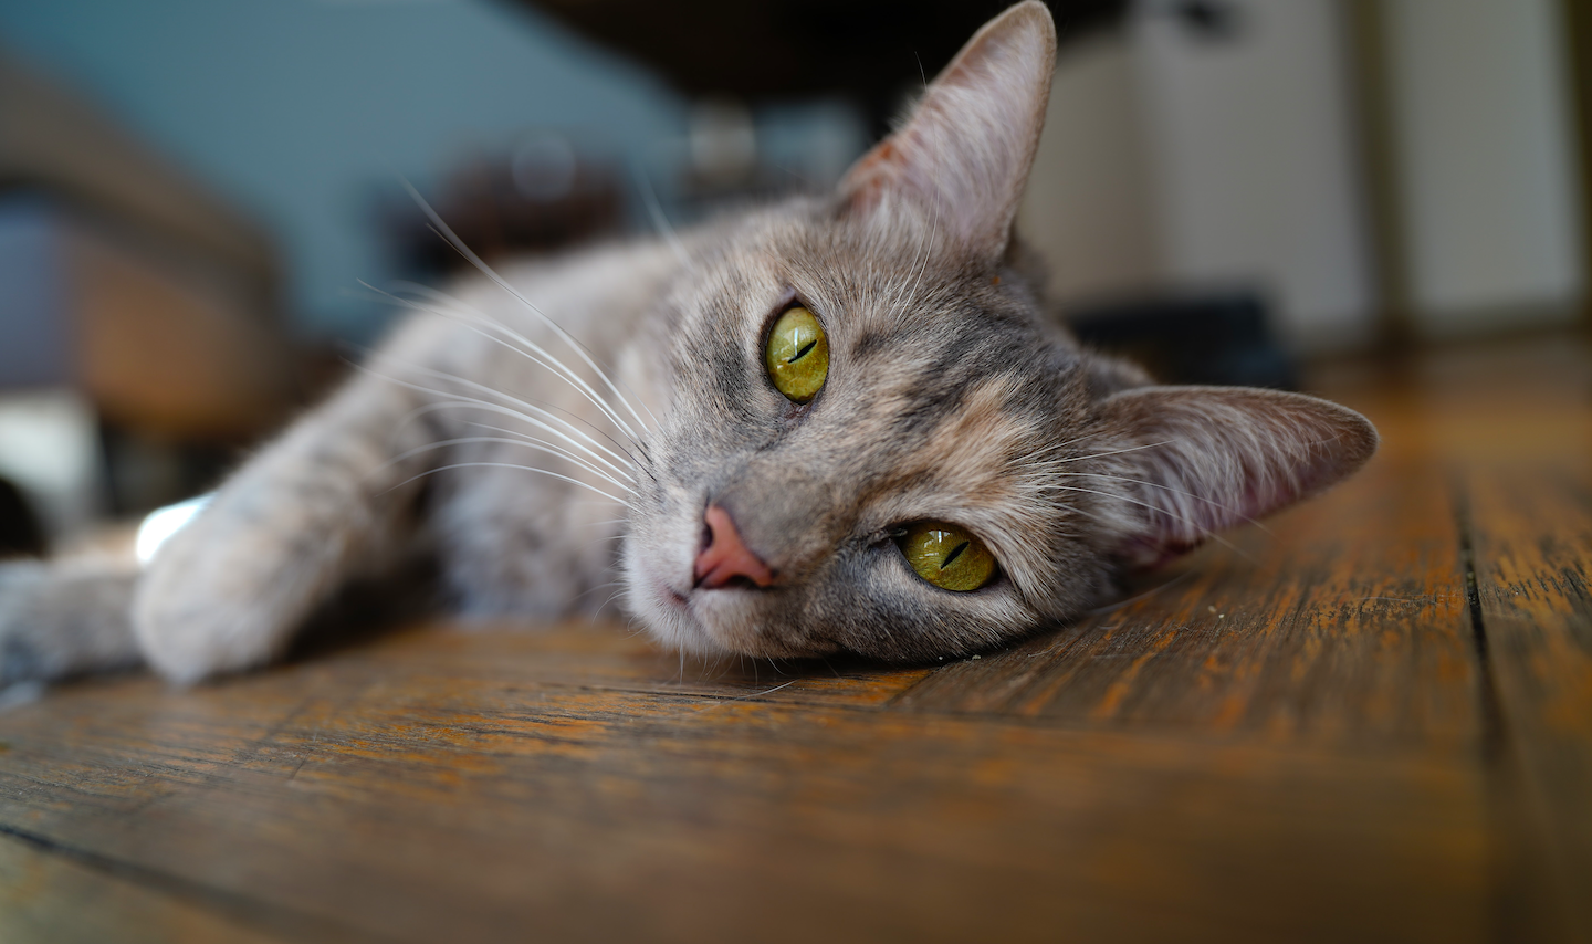
{"type": "Polygon", "coordinates": [[[591,610],[618,573],[685,653],[949,659],[1360,468],[1353,411],[1156,385],[1048,314],[1013,228],[1054,59],[1019,3],[831,194],[404,296],[142,573],[0,571],[3,680],[259,667],[417,543],[465,616],[591,610]]]}

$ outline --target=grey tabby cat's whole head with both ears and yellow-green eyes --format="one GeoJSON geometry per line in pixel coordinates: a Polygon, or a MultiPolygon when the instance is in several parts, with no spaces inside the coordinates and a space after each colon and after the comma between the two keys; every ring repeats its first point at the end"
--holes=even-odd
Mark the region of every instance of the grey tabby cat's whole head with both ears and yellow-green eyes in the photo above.
{"type": "Polygon", "coordinates": [[[659,638],[984,649],[1375,451],[1348,409],[1156,387],[1046,318],[1011,229],[1054,56],[1044,5],[1008,10],[833,197],[694,237],[654,320],[673,392],[624,548],[659,638]]]}

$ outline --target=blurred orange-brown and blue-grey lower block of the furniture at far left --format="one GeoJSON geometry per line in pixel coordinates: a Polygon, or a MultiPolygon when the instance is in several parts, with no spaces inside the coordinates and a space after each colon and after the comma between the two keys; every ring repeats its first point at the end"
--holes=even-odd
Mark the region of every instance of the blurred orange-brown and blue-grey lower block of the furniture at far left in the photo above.
{"type": "Polygon", "coordinates": [[[167,438],[247,439],[287,400],[287,345],[245,272],[137,223],[0,197],[0,387],[73,387],[167,438]]]}

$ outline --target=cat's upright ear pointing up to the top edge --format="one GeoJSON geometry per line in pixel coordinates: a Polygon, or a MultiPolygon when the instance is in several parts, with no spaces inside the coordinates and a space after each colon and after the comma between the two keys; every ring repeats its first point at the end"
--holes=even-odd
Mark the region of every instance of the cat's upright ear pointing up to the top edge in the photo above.
{"type": "Polygon", "coordinates": [[[1040,0],[984,24],[895,132],[847,172],[847,209],[925,201],[942,231],[984,258],[1006,250],[1044,127],[1055,24],[1040,0]]]}

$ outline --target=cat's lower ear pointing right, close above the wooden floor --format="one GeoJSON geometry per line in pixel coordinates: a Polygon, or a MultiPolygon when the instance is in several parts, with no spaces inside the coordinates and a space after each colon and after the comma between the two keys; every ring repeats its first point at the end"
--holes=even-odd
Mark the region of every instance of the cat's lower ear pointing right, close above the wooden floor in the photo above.
{"type": "Polygon", "coordinates": [[[1100,417],[1126,443],[1089,487],[1124,497],[1114,554],[1140,567],[1325,490],[1379,443],[1358,412],[1280,390],[1141,387],[1105,398],[1100,417]]]}

